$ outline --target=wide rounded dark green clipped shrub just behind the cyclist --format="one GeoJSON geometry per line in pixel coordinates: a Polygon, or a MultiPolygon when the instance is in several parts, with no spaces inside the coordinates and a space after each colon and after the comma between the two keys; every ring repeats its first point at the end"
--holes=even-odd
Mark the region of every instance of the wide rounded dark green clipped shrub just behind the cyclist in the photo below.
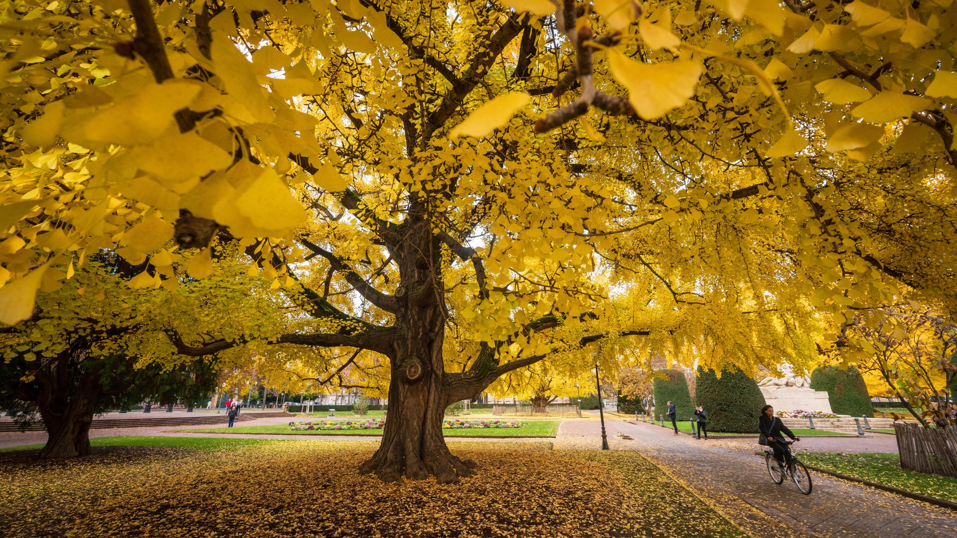
{"type": "Polygon", "coordinates": [[[699,368],[695,393],[698,405],[707,413],[708,430],[742,434],[758,431],[765,396],[744,371],[724,370],[719,379],[714,370],[699,368]]]}

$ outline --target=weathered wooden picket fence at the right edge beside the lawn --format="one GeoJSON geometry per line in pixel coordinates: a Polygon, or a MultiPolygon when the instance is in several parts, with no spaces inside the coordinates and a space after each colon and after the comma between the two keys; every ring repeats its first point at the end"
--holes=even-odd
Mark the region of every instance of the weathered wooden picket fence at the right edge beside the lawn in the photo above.
{"type": "Polygon", "coordinates": [[[928,429],[899,420],[894,430],[902,468],[957,478],[957,426],[928,429]]]}

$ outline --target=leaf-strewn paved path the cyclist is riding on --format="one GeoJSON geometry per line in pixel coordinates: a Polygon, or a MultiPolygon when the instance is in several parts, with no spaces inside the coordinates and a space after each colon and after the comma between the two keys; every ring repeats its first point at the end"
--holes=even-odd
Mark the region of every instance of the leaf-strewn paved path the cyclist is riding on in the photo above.
{"type": "MultiPolygon", "coordinates": [[[[749,439],[698,440],[671,429],[606,416],[612,450],[636,450],[754,536],[957,537],[957,513],[879,489],[812,472],[802,495],[791,482],[774,485],[749,439]],[[623,437],[626,436],[626,437],[623,437]],[[627,437],[632,437],[631,439],[627,437]]],[[[600,446],[595,418],[565,420],[556,448],[600,446]]],[[[894,437],[804,437],[801,450],[897,452],[894,437]],[[804,440],[807,439],[807,440],[804,440]]]]}

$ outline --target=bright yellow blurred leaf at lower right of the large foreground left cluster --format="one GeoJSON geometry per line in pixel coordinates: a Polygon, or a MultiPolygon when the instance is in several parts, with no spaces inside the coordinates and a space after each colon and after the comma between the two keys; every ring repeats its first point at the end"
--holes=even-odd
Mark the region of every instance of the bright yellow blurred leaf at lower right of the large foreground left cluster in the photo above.
{"type": "Polygon", "coordinates": [[[272,168],[264,168],[245,191],[236,197],[236,209],[264,230],[285,232],[299,226],[305,210],[272,168]]]}

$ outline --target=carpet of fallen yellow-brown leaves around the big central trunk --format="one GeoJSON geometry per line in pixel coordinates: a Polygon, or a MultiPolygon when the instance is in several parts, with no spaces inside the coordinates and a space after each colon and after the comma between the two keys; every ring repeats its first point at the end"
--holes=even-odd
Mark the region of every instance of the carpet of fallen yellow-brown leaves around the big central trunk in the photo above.
{"type": "Polygon", "coordinates": [[[741,536],[634,452],[456,442],[479,475],[386,484],[370,441],[0,455],[5,536],[741,536]]]}

